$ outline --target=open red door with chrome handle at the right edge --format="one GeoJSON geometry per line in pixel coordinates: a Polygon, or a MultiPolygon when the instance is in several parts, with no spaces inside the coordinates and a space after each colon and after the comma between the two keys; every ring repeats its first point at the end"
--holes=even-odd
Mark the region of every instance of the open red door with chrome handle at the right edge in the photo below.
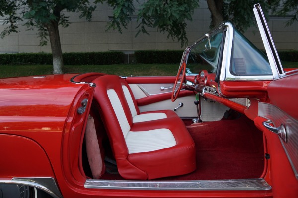
{"type": "Polygon", "coordinates": [[[298,197],[297,84],[298,74],[272,81],[270,103],[259,102],[255,119],[266,135],[270,163],[265,178],[275,198],[298,197]]]}

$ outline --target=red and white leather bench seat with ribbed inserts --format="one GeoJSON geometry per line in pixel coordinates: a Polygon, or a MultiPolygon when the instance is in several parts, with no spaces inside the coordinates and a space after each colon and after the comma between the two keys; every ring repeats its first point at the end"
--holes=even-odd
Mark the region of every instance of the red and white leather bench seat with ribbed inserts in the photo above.
{"type": "Polygon", "coordinates": [[[195,145],[171,110],[140,114],[124,79],[105,75],[93,81],[120,175],[146,180],[187,174],[196,169],[195,145]]]}

